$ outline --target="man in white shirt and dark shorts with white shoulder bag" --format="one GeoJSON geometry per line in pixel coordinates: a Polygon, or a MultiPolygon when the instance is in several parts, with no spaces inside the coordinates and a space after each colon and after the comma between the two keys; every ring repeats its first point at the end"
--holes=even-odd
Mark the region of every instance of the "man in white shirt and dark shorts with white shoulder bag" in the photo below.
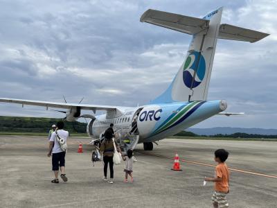
{"type": "MultiPolygon", "coordinates": [[[[69,137],[69,132],[63,130],[64,128],[64,122],[59,121],[57,122],[57,134],[66,141],[66,139],[69,137]]],[[[49,151],[47,156],[50,157],[52,154],[52,171],[54,171],[55,179],[52,180],[51,182],[58,184],[59,179],[59,166],[60,166],[60,172],[62,177],[62,180],[66,182],[68,179],[65,176],[65,153],[63,152],[62,149],[60,148],[60,143],[57,141],[56,138],[56,133],[53,132],[51,135],[51,138],[49,140],[49,151]]]]}

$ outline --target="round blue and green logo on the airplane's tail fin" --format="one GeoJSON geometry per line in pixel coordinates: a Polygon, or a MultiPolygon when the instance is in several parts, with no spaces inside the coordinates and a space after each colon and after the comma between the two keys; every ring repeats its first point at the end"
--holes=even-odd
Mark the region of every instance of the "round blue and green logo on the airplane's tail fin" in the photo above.
{"type": "Polygon", "coordinates": [[[193,52],[188,55],[184,64],[183,80],[186,87],[197,87],[202,83],[206,72],[206,62],[204,56],[199,52],[193,52]],[[199,64],[197,67],[197,59],[199,58],[199,64]],[[197,69],[198,68],[198,69],[197,69]],[[196,72],[196,73],[195,73],[196,72]],[[195,78],[193,78],[195,74],[195,78]]]}

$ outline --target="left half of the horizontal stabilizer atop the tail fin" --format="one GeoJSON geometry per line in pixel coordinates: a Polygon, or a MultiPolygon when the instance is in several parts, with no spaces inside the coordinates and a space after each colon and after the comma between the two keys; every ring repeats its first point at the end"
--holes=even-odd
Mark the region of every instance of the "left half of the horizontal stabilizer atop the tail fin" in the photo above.
{"type": "Polygon", "coordinates": [[[194,35],[208,29],[209,20],[177,15],[159,10],[147,10],[141,15],[141,22],[148,22],[181,33],[194,35]]]}

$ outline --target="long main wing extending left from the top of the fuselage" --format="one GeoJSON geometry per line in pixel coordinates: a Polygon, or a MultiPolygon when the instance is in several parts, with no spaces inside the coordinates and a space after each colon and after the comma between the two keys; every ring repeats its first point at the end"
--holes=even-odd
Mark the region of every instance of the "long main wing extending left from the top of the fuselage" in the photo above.
{"type": "Polygon", "coordinates": [[[80,109],[82,109],[82,110],[93,110],[93,112],[96,112],[96,110],[106,110],[106,111],[114,110],[114,111],[117,111],[117,112],[121,112],[120,109],[124,108],[124,107],[120,107],[120,106],[111,106],[111,105],[88,105],[88,104],[80,104],[80,103],[57,103],[57,102],[30,101],[30,100],[11,99],[11,98],[0,98],[0,102],[2,102],[2,103],[17,103],[17,104],[21,104],[22,107],[24,105],[42,106],[42,107],[46,107],[46,110],[48,110],[48,107],[55,107],[55,108],[62,108],[62,109],[69,109],[69,110],[72,107],[80,107],[80,109]]]}

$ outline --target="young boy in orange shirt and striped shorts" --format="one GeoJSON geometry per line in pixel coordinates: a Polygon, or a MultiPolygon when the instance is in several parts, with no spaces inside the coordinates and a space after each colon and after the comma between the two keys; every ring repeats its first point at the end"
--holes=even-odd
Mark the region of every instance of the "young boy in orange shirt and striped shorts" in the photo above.
{"type": "Polygon", "coordinates": [[[215,193],[213,193],[213,207],[229,207],[226,200],[226,195],[229,193],[229,170],[225,161],[228,158],[229,153],[224,149],[215,151],[215,177],[205,177],[206,181],[215,182],[215,193]]]}

